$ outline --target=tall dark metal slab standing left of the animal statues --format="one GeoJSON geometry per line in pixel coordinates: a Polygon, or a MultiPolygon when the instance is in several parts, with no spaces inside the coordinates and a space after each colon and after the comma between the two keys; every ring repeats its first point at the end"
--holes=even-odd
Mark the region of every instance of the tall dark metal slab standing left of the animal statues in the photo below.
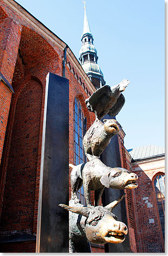
{"type": "Polygon", "coordinates": [[[69,81],[48,73],[44,107],[36,252],[68,252],[69,81]]]}

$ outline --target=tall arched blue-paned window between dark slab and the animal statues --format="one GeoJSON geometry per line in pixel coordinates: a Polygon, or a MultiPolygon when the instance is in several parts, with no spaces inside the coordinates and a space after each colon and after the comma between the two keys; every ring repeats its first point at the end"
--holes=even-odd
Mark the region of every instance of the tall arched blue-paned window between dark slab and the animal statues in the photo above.
{"type": "MultiPolygon", "coordinates": [[[[84,115],[81,108],[80,101],[75,97],[74,102],[74,164],[86,162],[86,156],[83,149],[83,121],[84,115]]],[[[77,192],[77,196],[81,200],[81,203],[85,205],[85,197],[83,192],[83,186],[77,192]]]]}

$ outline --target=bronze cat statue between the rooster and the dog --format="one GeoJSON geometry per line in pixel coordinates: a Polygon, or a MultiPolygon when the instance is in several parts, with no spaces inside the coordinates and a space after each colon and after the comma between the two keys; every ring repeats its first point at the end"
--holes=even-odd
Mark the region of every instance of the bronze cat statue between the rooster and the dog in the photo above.
{"type": "Polygon", "coordinates": [[[100,156],[111,138],[121,130],[121,125],[115,119],[96,119],[83,137],[83,147],[88,160],[100,156]]]}

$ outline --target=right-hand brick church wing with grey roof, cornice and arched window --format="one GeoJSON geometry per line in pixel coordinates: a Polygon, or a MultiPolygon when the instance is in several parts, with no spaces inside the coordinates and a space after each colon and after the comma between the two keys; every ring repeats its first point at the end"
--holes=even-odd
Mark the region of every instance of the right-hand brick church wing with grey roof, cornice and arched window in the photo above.
{"type": "Polygon", "coordinates": [[[147,145],[127,150],[119,133],[122,167],[138,175],[138,187],[125,190],[131,251],[165,251],[165,149],[147,145]],[[153,238],[154,237],[154,238],[153,238]]]}

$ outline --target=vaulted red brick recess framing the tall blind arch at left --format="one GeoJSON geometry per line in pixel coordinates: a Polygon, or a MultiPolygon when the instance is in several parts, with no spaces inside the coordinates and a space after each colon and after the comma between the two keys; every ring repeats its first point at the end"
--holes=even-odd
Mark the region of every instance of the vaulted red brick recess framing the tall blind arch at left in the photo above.
{"type": "MultiPolygon", "coordinates": [[[[1,164],[1,173],[3,174],[3,179],[1,179],[1,205],[3,199],[3,191],[5,184],[5,175],[7,173],[7,166],[9,160],[9,150],[11,143],[12,129],[14,126],[14,116],[16,101],[18,95],[25,84],[35,77],[36,80],[41,81],[43,87],[42,94],[42,112],[40,119],[40,132],[39,132],[39,142],[38,142],[38,161],[37,161],[37,173],[36,173],[36,188],[35,188],[35,220],[37,219],[37,206],[38,206],[38,185],[40,177],[40,159],[41,159],[41,141],[42,141],[42,123],[43,123],[43,109],[44,109],[44,95],[46,86],[46,76],[49,71],[60,75],[60,63],[62,63],[61,57],[53,50],[50,44],[41,38],[40,35],[31,31],[29,28],[22,29],[21,41],[20,41],[20,51],[17,54],[17,61],[15,66],[15,72],[13,76],[12,86],[15,90],[15,94],[12,95],[12,102],[10,106],[10,118],[8,120],[7,134],[5,137],[5,145],[3,148],[3,162],[1,164]],[[33,54],[33,56],[32,56],[33,54]],[[41,57],[41,58],[40,58],[41,57]]],[[[8,101],[7,101],[8,103],[8,101]]],[[[0,211],[1,211],[0,205],[0,211]]],[[[36,230],[36,222],[34,224],[36,230]]],[[[34,230],[34,231],[35,231],[34,230]]]]}

